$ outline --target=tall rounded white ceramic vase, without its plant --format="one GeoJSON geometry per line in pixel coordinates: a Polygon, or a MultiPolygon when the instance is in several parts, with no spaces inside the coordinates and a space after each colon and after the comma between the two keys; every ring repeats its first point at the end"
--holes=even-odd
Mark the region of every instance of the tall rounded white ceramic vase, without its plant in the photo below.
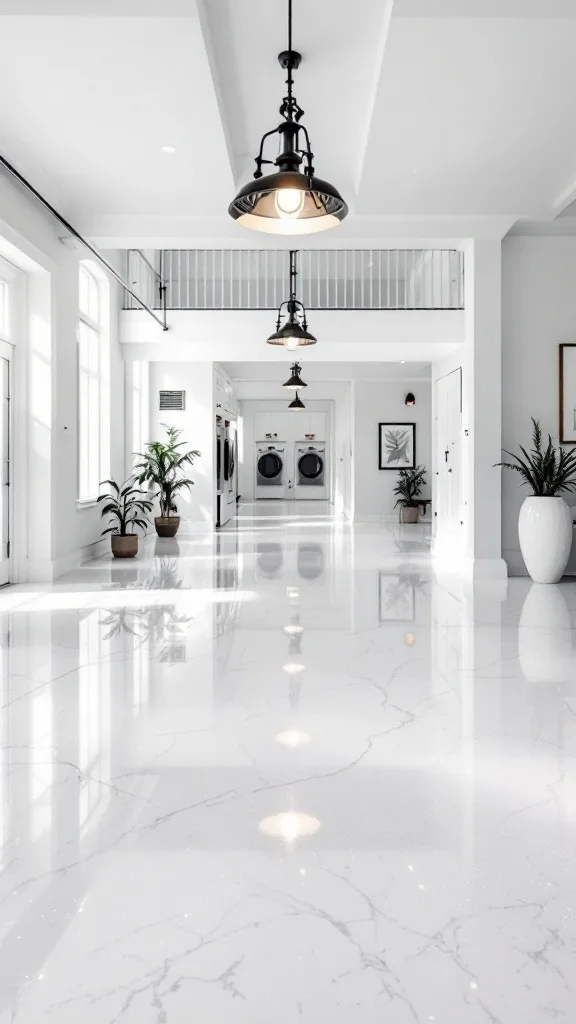
{"type": "Polygon", "coordinates": [[[520,510],[518,532],[534,583],[558,583],[572,548],[572,509],[564,498],[527,498],[520,510]]]}

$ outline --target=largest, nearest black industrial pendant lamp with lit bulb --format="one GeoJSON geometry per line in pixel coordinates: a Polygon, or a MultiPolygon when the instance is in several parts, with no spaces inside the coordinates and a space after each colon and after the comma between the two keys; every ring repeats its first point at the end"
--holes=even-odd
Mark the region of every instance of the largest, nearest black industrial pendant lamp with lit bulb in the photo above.
{"type": "Polygon", "coordinates": [[[279,53],[278,60],[288,72],[288,90],[280,106],[284,120],[278,128],[262,135],[254,180],[240,189],[229,213],[239,224],[257,231],[311,234],[336,227],[348,208],[334,185],[315,176],[310,136],[300,124],[304,112],[292,95],[292,72],[301,60],[300,54],[292,49],[292,0],[288,0],[288,49],[279,53]],[[264,160],[264,142],[277,134],[280,153],[274,161],[264,160]],[[277,170],[262,176],[262,164],[273,164],[277,170]]]}

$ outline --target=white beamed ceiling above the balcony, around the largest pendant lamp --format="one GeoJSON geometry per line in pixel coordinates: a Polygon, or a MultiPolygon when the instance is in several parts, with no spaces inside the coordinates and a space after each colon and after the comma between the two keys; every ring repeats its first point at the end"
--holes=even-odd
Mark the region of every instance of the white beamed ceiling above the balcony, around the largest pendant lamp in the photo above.
{"type": "MultiPolygon", "coordinates": [[[[0,0],[0,153],[81,228],[241,237],[225,211],[277,123],[286,0],[0,0]]],[[[342,240],[576,223],[575,0],[294,0],[294,45],[342,240]]]]}

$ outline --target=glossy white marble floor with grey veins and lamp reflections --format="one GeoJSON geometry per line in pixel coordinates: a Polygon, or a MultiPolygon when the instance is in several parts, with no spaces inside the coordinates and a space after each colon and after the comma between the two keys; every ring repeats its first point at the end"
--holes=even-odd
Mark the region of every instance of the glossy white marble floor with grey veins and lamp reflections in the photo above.
{"type": "Polygon", "coordinates": [[[0,1024],[576,1020],[576,584],[427,529],[262,504],[0,593],[0,1024]]]}

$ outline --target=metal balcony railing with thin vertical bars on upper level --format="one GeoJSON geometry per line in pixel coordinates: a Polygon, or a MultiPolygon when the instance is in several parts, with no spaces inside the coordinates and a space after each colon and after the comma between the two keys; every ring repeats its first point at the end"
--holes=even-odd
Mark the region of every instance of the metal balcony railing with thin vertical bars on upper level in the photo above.
{"type": "MultiPolygon", "coordinates": [[[[152,307],[278,309],[288,298],[284,249],[130,249],[127,281],[152,307]]],[[[302,249],[298,298],[306,309],[462,309],[457,249],[302,249]]],[[[137,309],[125,294],[126,309],[137,309]]]]}

